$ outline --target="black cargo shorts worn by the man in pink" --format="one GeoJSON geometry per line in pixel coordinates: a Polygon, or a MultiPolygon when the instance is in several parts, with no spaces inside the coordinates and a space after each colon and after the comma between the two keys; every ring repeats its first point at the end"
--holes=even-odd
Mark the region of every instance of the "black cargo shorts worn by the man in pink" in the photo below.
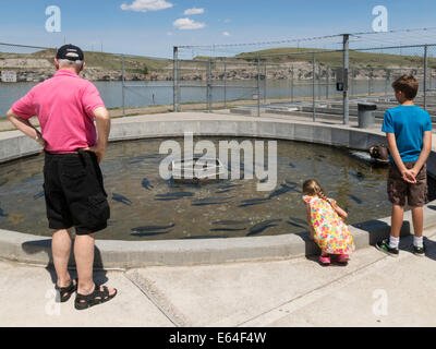
{"type": "Polygon", "coordinates": [[[76,234],[88,234],[107,227],[110,208],[101,170],[93,152],[46,152],[44,193],[49,228],[75,227],[76,234]]]}

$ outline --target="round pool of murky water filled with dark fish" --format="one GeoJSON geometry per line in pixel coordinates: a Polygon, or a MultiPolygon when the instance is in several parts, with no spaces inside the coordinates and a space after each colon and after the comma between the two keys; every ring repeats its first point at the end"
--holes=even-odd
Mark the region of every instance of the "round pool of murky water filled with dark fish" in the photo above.
{"type": "MultiPolygon", "coordinates": [[[[223,167],[228,179],[179,182],[165,179],[159,154],[169,139],[110,143],[101,163],[111,216],[96,239],[164,240],[277,236],[307,231],[302,184],[316,179],[327,196],[348,212],[347,224],[389,216],[386,166],[377,166],[362,152],[303,142],[277,141],[277,184],[258,191],[259,179],[244,168],[240,153],[238,177],[231,172],[229,149],[223,167]]],[[[181,146],[183,137],[170,139],[181,146]]],[[[264,141],[265,167],[268,141],[249,137],[194,137],[211,141],[264,141]]],[[[217,151],[218,155],[218,151],[217,151]]],[[[50,237],[43,191],[44,156],[3,164],[0,168],[0,228],[50,237]]],[[[255,168],[255,167],[253,167],[255,168]]]]}

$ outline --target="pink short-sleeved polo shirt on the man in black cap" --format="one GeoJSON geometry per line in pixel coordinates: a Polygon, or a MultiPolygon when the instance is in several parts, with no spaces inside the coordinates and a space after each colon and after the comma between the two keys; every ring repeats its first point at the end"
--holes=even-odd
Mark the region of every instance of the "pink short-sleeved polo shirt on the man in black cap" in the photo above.
{"type": "Polygon", "coordinates": [[[33,87],[12,106],[22,119],[37,116],[50,153],[73,153],[97,142],[93,111],[105,107],[96,86],[68,70],[33,87]]]}

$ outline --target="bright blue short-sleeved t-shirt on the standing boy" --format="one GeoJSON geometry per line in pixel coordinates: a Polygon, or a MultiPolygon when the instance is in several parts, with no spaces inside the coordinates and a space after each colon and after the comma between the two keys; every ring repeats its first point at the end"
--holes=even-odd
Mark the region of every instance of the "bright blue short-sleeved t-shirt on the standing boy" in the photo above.
{"type": "MultiPolygon", "coordinates": [[[[382,131],[395,133],[403,163],[416,161],[422,151],[424,131],[432,131],[432,118],[420,107],[399,106],[386,110],[382,131]]],[[[393,163],[390,155],[389,161],[393,163]]]]}

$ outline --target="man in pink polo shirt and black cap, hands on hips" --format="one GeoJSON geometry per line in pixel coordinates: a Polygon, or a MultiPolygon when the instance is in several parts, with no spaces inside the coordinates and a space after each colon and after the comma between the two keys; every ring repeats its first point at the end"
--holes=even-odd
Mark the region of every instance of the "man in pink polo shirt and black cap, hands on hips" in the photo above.
{"type": "Polygon", "coordinates": [[[93,280],[94,233],[110,216],[99,163],[106,152],[110,119],[97,88],[81,79],[83,51],[62,46],[56,56],[57,73],[36,85],[8,111],[9,120],[45,151],[44,191],[52,256],[61,302],[76,292],[75,308],[86,309],[112,299],[117,289],[93,280]],[[41,133],[28,119],[37,116],[41,133]],[[94,125],[96,121],[96,127],[94,125]],[[98,135],[98,137],[97,137],[98,135]],[[68,272],[75,227],[74,256],[78,280],[68,272]]]}

